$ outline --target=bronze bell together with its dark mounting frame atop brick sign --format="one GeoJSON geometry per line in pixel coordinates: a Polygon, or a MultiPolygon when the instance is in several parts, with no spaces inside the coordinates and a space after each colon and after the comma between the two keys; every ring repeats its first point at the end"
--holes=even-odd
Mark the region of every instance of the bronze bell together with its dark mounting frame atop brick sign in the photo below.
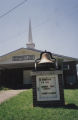
{"type": "Polygon", "coordinates": [[[52,53],[44,51],[40,54],[40,58],[35,60],[35,70],[55,69],[56,59],[52,57],[52,53]]]}

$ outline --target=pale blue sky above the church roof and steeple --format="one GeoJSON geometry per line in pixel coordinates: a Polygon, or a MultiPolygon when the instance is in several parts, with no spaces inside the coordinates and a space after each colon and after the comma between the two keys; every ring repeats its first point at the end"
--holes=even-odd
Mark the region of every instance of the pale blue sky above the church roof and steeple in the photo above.
{"type": "MultiPolygon", "coordinates": [[[[0,16],[25,0],[0,0],[0,16]]],[[[78,58],[78,0],[27,0],[0,18],[0,56],[28,42],[29,19],[36,49],[78,58]]]]}

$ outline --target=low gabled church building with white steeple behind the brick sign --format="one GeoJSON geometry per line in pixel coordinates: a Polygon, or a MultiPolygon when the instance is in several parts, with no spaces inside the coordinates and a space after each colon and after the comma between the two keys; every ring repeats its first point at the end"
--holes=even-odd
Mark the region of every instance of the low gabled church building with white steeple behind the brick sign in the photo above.
{"type": "MultiPolygon", "coordinates": [[[[32,87],[31,72],[35,60],[40,58],[41,50],[35,49],[32,40],[31,21],[29,21],[29,35],[26,48],[20,48],[0,56],[0,87],[13,89],[32,87]]],[[[65,88],[77,87],[78,59],[52,53],[58,62],[58,68],[63,70],[63,84],[65,88]]]]}

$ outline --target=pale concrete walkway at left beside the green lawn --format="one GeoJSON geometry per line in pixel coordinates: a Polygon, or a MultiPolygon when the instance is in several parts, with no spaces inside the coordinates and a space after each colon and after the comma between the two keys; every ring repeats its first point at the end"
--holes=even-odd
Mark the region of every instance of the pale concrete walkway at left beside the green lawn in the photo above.
{"type": "Polygon", "coordinates": [[[17,94],[23,92],[25,90],[6,90],[6,91],[0,91],[0,104],[7,99],[16,96],[17,94]]]}

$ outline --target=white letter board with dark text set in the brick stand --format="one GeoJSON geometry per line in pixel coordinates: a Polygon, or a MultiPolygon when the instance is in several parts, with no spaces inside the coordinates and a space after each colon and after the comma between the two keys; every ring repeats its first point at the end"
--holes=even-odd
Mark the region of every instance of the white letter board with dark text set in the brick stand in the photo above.
{"type": "Polygon", "coordinates": [[[60,100],[58,75],[36,77],[37,101],[60,100]]]}

